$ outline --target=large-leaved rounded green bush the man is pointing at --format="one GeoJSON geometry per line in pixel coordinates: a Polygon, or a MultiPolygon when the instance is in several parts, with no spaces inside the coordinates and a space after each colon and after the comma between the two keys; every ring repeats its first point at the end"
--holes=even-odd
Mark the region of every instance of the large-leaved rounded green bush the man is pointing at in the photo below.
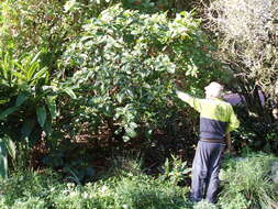
{"type": "Polygon", "coordinates": [[[80,130],[89,122],[94,132],[107,125],[124,141],[165,129],[164,121],[178,112],[175,79],[200,95],[221,75],[199,23],[188,12],[169,20],[166,13],[142,14],[119,4],[88,21],[60,61],[74,72],[68,84],[77,100],[64,108],[73,112],[71,125],[80,130]]]}

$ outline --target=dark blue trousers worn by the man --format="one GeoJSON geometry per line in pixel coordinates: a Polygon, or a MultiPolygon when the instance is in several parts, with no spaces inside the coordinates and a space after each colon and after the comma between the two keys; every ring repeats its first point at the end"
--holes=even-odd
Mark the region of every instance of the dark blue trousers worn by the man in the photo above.
{"type": "Polygon", "coordinates": [[[198,142],[193,165],[190,199],[205,198],[215,204],[219,189],[219,170],[225,144],[198,142]]]}

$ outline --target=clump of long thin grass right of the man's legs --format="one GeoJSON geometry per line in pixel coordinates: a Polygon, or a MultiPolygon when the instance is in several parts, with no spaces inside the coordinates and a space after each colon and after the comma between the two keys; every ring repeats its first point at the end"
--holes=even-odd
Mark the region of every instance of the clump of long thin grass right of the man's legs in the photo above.
{"type": "Polygon", "coordinates": [[[278,190],[270,176],[275,161],[278,158],[263,153],[227,161],[220,206],[224,209],[271,209],[277,206],[278,190]]]}

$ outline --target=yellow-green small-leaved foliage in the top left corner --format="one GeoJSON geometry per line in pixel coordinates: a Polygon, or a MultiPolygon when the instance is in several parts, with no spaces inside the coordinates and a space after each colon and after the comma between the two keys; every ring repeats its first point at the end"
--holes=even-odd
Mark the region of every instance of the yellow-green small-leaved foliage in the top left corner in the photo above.
{"type": "MultiPolygon", "coordinates": [[[[119,0],[120,1],[120,0],[119,0]]],[[[4,0],[0,6],[0,46],[20,56],[40,52],[51,76],[67,43],[78,36],[81,25],[118,0],[4,0]]]]}

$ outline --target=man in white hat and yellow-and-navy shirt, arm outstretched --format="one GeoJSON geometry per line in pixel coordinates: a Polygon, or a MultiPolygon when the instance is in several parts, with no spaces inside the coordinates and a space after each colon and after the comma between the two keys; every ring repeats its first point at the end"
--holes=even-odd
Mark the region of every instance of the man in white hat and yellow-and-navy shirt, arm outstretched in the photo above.
{"type": "Polygon", "coordinates": [[[198,142],[193,165],[190,199],[194,202],[205,198],[215,204],[219,188],[219,169],[230,132],[238,128],[233,108],[221,99],[223,86],[211,82],[204,88],[205,99],[198,99],[177,90],[177,96],[200,112],[200,141],[198,142]]]}

